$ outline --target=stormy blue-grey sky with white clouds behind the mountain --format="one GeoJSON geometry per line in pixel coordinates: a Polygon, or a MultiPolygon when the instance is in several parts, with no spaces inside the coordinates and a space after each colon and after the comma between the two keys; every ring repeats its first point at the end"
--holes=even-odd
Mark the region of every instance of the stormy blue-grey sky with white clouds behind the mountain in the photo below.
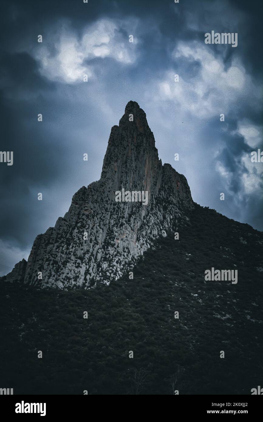
{"type": "Polygon", "coordinates": [[[111,127],[130,100],[195,202],[263,230],[263,163],[250,160],[263,150],[261,4],[2,2],[0,149],[14,151],[14,164],[0,163],[0,275],[100,178],[111,127]],[[238,46],[206,44],[212,30],[238,33],[238,46]]]}

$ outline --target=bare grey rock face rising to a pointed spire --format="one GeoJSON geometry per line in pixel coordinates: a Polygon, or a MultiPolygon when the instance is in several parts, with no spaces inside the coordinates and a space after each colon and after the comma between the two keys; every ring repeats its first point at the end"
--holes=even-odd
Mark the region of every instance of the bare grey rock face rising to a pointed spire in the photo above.
{"type": "Polygon", "coordinates": [[[22,261],[16,264],[5,278],[60,288],[109,283],[132,269],[178,217],[187,218],[187,208],[193,208],[187,180],[162,165],[146,114],[130,101],[111,128],[100,180],[76,192],[64,218],[36,237],[27,264],[21,271],[22,261]],[[148,191],[148,204],[116,202],[122,189],[148,191]]]}

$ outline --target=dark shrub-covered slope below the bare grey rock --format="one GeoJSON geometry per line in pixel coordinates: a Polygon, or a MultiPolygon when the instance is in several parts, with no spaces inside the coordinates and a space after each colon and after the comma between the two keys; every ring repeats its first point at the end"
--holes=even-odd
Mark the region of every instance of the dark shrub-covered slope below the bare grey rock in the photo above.
{"type": "Polygon", "coordinates": [[[178,232],[144,254],[133,280],[70,291],[0,283],[1,386],[14,394],[251,394],[263,379],[263,233],[198,205],[178,232]],[[238,283],[204,281],[211,267],[237,269],[238,283]]]}

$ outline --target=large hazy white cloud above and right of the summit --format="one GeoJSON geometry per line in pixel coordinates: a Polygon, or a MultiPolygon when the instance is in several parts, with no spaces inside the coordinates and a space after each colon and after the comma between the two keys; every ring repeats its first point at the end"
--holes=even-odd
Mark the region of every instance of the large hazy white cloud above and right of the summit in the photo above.
{"type": "Polygon", "coordinates": [[[175,61],[174,70],[165,73],[159,81],[159,95],[162,100],[173,100],[182,110],[190,111],[199,118],[220,116],[231,113],[233,108],[248,95],[254,102],[259,101],[260,87],[255,87],[251,77],[246,74],[238,59],[233,59],[225,69],[221,56],[200,42],[180,41],[172,53],[175,61]],[[197,75],[188,78],[187,73],[179,72],[180,61],[187,60],[200,64],[197,75]],[[179,74],[179,82],[174,82],[174,75],[179,74]]]}

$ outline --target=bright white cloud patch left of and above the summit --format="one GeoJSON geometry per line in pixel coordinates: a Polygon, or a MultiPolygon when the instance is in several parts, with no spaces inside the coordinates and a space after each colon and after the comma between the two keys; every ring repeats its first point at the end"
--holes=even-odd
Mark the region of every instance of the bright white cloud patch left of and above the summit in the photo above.
{"type": "Polygon", "coordinates": [[[87,26],[81,38],[70,29],[68,22],[53,28],[47,40],[30,51],[38,60],[40,73],[52,81],[82,82],[83,75],[95,77],[94,59],[110,57],[122,64],[132,64],[137,57],[134,37],[129,42],[130,28],[136,32],[138,21],[100,19],[87,26]],[[125,32],[127,35],[125,35],[125,32]]]}

